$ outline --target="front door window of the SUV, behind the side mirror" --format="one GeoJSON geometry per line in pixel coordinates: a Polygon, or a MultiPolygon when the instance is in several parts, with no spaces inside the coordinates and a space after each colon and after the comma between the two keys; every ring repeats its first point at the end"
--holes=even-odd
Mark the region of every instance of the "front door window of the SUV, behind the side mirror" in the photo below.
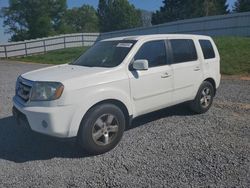
{"type": "Polygon", "coordinates": [[[134,60],[146,59],[149,67],[166,65],[166,47],[163,40],[146,42],[136,53],[134,60]]]}

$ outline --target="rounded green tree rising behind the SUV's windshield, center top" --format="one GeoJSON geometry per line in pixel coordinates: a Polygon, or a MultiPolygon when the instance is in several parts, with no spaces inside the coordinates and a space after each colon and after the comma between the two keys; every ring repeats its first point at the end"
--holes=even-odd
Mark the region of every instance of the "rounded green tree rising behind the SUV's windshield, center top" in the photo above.
{"type": "Polygon", "coordinates": [[[102,32],[142,26],[140,11],[127,0],[99,0],[98,17],[102,32]]]}

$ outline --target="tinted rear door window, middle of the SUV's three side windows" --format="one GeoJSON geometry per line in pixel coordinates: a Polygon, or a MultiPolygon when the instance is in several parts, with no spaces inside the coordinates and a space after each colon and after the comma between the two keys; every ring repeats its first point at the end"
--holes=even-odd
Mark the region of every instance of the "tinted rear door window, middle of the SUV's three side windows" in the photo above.
{"type": "Polygon", "coordinates": [[[172,39],[170,40],[173,63],[183,63],[197,60],[197,52],[193,40],[191,39],[172,39]]]}

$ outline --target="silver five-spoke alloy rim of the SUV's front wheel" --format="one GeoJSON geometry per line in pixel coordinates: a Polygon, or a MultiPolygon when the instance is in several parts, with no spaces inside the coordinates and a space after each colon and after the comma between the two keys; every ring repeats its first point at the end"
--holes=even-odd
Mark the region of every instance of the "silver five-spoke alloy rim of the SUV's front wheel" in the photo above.
{"type": "Polygon", "coordinates": [[[104,114],[96,120],[92,138],[97,145],[108,145],[116,138],[118,128],[117,118],[111,114],[104,114]]]}

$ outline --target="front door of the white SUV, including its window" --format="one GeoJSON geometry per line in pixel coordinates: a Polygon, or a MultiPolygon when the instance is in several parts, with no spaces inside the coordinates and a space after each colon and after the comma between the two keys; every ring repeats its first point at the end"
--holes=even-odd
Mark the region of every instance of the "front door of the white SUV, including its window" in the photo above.
{"type": "Polygon", "coordinates": [[[167,63],[164,40],[144,43],[134,60],[146,59],[148,70],[130,71],[131,98],[136,115],[141,115],[171,104],[173,90],[173,70],[167,63]]]}

